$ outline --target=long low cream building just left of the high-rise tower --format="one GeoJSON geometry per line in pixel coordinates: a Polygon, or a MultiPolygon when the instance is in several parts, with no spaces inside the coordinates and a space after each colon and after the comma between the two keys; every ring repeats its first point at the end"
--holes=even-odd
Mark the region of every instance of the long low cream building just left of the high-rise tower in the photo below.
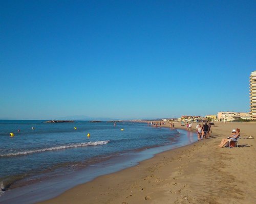
{"type": "Polygon", "coordinates": [[[236,119],[250,119],[250,113],[242,112],[218,112],[218,120],[220,122],[232,121],[236,119]]]}

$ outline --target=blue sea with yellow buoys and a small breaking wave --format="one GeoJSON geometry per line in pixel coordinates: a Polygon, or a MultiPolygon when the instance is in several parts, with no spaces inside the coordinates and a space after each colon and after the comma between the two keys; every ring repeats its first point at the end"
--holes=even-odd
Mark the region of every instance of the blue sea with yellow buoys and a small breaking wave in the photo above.
{"type": "Polygon", "coordinates": [[[197,141],[185,130],[115,123],[0,120],[0,203],[46,200],[197,141]]]}

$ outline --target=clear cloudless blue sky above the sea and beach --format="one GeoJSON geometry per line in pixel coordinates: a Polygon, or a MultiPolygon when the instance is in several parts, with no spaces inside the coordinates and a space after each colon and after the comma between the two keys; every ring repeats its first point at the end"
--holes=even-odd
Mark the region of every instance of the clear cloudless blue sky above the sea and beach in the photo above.
{"type": "Polygon", "coordinates": [[[256,1],[1,1],[0,119],[249,111],[256,1]]]}

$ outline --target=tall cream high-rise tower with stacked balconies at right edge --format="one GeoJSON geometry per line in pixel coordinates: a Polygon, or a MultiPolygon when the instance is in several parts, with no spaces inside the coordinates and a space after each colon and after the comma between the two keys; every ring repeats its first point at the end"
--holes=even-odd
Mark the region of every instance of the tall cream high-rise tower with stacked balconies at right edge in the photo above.
{"type": "Polygon", "coordinates": [[[250,75],[250,117],[256,120],[256,71],[250,75]]]}

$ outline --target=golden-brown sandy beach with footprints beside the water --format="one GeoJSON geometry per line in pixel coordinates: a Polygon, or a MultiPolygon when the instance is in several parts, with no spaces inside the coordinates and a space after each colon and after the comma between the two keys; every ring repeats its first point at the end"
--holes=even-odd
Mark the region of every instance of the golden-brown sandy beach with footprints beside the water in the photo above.
{"type": "MultiPolygon", "coordinates": [[[[175,127],[183,128],[180,123],[175,127]]],[[[255,141],[255,122],[216,123],[209,139],[162,152],[40,203],[256,203],[255,141]],[[219,148],[237,127],[239,147],[219,148]],[[247,139],[249,135],[255,139],[247,139]]]]}

